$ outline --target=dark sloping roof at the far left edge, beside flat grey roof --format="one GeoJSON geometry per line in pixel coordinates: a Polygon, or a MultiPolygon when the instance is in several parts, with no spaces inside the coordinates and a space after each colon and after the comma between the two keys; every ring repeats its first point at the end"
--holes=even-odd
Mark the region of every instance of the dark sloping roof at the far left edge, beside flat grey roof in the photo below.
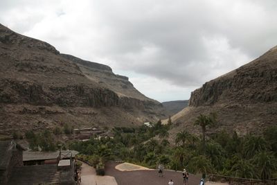
{"type": "Polygon", "coordinates": [[[6,170],[12,157],[13,141],[0,141],[0,170],[6,170]]]}

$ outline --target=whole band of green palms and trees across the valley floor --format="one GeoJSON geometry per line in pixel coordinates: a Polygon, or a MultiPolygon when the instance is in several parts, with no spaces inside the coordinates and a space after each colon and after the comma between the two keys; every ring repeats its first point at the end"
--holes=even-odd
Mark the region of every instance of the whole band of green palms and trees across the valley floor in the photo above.
{"type": "Polygon", "coordinates": [[[206,127],[215,125],[215,118],[215,114],[198,116],[195,124],[202,128],[202,136],[183,130],[172,145],[167,140],[170,125],[158,121],[153,127],[114,127],[114,138],[73,141],[69,148],[80,151],[80,157],[96,168],[107,160],[122,160],[150,168],[162,163],[173,170],[188,168],[190,173],[256,179],[277,174],[277,126],[262,135],[238,136],[223,130],[206,136],[206,127]]]}

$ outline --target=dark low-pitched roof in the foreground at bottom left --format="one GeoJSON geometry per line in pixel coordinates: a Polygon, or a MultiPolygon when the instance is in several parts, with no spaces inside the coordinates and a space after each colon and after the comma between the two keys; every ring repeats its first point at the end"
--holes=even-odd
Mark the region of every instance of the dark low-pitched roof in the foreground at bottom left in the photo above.
{"type": "Polygon", "coordinates": [[[17,166],[8,184],[74,184],[74,171],[57,170],[56,164],[17,166]]]}

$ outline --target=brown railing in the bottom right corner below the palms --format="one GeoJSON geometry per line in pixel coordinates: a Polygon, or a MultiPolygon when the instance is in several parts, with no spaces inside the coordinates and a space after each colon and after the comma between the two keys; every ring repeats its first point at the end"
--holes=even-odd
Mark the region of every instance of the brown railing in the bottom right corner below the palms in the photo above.
{"type": "Polygon", "coordinates": [[[209,174],[208,180],[210,182],[221,182],[226,184],[232,184],[232,185],[277,185],[277,179],[246,179],[246,178],[239,178],[239,177],[229,177],[224,175],[215,175],[215,174],[209,174]]]}

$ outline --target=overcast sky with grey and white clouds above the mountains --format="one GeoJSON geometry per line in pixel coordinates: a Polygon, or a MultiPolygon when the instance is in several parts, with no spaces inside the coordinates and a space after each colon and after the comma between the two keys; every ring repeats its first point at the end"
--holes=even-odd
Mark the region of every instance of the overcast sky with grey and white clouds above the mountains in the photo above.
{"type": "Polygon", "coordinates": [[[143,94],[190,92],[277,45],[275,0],[1,0],[0,23],[108,64],[143,94]]]}

